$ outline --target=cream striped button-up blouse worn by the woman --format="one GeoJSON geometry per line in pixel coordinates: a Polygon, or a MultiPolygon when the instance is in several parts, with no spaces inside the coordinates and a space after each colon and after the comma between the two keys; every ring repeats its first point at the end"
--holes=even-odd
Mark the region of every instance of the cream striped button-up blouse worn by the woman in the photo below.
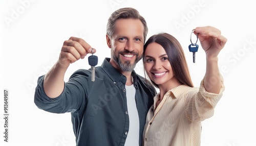
{"type": "Polygon", "coordinates": [[[154,97],[146,116],[143,145],[200,145],[201,121],[214,115],[225,89],[223,78],[219,94],[207,92],[203,81],[199,88],[180,85],[169,90],[156,109],[159,93],[154,97]]]}

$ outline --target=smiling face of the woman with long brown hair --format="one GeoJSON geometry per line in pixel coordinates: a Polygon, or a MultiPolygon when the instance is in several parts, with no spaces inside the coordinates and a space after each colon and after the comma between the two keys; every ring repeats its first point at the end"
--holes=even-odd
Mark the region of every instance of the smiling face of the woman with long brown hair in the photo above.
{"type": "Polygon", "coordinates": [[[148,44],[144,56],[146,74],[154,83],[164,85],[176,80],[169,58],[160,44],[148,44]]]}

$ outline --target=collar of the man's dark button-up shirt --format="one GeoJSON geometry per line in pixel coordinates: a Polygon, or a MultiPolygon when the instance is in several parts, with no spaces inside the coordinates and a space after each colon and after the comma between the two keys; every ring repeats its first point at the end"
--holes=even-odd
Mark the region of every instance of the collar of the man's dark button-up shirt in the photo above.
{"type": "MultiPolygon", "coordinates": [[[[126,83],[126,78],[122,75],[113,65],[110,64],[110,58],[105,58],[103,63],[101,64],[101,68],[106,72],[106,74],[111,78],[113,82],[122,82],[123,84],[126,83]]],[[[132,71],[133,77],[133,84],[137,85],[138,79],[137,74],[133,70],[132,71]]]]}

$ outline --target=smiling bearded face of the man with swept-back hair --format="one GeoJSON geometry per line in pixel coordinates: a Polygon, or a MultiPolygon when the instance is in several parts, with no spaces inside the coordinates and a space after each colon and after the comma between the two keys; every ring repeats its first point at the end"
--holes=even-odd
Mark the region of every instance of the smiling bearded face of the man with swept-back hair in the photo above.
{"type": "Polygon", "coordinates": [[[119,19],[115,33],[107,42],[111,48],[110,63],[120,71],[132,71],[143,54],[144,27],[139,19],[119,19]]]}

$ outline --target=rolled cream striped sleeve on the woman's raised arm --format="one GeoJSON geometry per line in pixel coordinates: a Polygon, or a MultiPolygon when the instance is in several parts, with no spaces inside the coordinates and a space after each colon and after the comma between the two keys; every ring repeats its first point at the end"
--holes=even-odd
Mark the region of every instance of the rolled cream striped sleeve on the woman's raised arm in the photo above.
{"type": "Polygon", "coordinates": [[[201,81],[199,91],[193,88],[188,92],[186,100],[186,114],[191,122],[203,121],[214,115],[214,108],[221,99],[225,86],[221,77],[221,89],[218,94],[207,92],[204,87],[204,79],[201,81]]]}

